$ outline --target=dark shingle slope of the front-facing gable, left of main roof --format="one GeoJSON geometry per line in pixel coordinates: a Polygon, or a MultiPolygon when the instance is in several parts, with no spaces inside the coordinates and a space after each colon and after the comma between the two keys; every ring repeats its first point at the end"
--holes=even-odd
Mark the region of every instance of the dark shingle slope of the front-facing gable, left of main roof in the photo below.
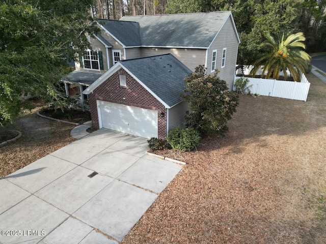
{"type": "Polygon", "coordinates": [[[97,22],[116,37],[124,46],[135,47],[142,45],[139,23],[108,19],[98,19],[97,22]]]}

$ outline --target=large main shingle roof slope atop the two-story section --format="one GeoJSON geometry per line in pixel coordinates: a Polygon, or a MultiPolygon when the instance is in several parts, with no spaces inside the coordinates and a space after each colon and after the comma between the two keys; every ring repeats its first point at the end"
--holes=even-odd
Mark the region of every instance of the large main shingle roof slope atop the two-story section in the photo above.
{"type": "Polygon", "coordinates": [[[224,11],[124,16],[120,20],[139,23],[142,46],[207,48],[230,15],[224,11]]]}

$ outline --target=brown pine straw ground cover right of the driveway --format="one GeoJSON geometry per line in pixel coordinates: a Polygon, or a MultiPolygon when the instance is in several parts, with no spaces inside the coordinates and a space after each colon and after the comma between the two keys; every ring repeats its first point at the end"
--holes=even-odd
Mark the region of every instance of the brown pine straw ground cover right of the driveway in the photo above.
{"type": "Polygon", "coordinates": [[[326,84],[307,77],[307,102],[240,96],[122,243],[326,243],[326,84]]]}

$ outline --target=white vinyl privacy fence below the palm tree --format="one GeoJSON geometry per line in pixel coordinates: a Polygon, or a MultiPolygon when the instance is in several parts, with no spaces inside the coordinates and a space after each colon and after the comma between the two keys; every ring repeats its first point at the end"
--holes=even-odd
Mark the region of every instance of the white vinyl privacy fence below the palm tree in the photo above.
{"type": "MultiPolygon", "coordinates": [[[[238,78],[240,77],[235,76],[234,81],[238,78]]],[[[310,83],[304,74],[301,74],[300,82],[250,77],[245,78],[249,79],[247,87],[250,89],[251,94],[307,101],[310,83]]],[[[233,90],[235,90],[235,86],[233,90]]],[[[248,89],[246,93],[248,93],[248,89]]]]}

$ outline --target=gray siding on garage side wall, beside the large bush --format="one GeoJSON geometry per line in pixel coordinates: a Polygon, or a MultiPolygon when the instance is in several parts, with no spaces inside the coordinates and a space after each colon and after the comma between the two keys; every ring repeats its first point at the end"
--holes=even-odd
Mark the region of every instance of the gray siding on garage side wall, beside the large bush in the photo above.
{"type": "Polygon", "coordinates": [[[184,116],[185,112],[189,109],[189,104],[187,102],[181,102],[174,107],[169,109],[169,128],[168,128],[168,134],[169,131],[171,131],[173,128],[178,126],[183,126],[184,124],[184,116]]]}

